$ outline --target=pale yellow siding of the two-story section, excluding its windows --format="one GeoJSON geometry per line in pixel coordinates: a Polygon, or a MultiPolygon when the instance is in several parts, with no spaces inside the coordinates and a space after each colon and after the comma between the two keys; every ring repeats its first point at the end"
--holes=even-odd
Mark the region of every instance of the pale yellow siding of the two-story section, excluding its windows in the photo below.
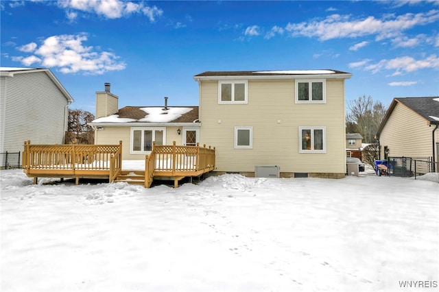
{"type": "Polygon", "coordinates": [[[344,173],[344,81],[327,81],[326,104],[296,104],[294,80],[249,80],[248,104],[218,104],[216,81],[200,85],[200,143],[216,147],[217,171],[344,173]],[[235,126],[253,127],[252,149],[234,149],[235,126]],[[324,126],[326,154],[300,154],[298,127],[324,126]]]}

